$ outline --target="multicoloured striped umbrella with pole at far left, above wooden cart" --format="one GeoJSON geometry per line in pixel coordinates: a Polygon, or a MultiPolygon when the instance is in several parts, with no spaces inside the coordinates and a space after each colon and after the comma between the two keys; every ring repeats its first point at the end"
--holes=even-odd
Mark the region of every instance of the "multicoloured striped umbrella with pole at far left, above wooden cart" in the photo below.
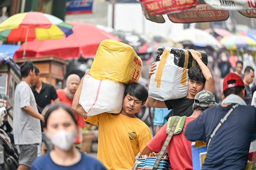
{"type": "MultiPolygon", "coordinates": [[[[73,33],[73,25],[65,23],[63,20],[41,12],[18,13],[9,17],[0,24],[0,40],[9,42],[33,41],[47,39],[61,39],[73,33]]],[[[26,48],[24,50],[24,55],[26,48]]]]}

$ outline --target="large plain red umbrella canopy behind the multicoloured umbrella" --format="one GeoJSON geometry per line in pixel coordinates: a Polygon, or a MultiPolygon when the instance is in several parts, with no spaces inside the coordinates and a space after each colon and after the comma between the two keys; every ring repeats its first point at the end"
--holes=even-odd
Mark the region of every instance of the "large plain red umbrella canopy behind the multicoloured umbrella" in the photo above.
{"type": "MultiPolygon", "coordinates": [[[[120,40],[111,33],[88,23],[67,22],[74,25],[74,33],[59,40],[28,41],[26,57],[54,55],[61,59],[92,58],[95,56],[102,40],[120,40]]],[[[121,41],[121,40],[120,40],[121,41]]],[[[14,59],[22,58],[24,44],[14,54],[14,59]]]]}

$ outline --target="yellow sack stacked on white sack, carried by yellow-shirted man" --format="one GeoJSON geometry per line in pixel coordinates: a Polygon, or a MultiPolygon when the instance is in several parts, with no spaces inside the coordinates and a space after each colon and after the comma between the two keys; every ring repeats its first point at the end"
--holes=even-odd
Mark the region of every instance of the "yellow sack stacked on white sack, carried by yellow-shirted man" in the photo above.
{"type": "Polygon", "coordinates": [[[99,44],[90,75],[84,77],[79,104],[93,116],[122,110],[125,84],[138,82],[142,60],[127,44],[103,40],[99,44]]]}

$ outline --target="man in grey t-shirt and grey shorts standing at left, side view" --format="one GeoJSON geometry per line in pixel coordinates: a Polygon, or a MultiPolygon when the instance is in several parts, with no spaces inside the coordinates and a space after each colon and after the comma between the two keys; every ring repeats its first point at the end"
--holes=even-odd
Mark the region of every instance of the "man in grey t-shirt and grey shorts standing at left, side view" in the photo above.
{"type": "Polygon", "coordinates": [[[30,61],[22,63],[20,72],[22,81],[14,94],[14,143],[20,149],[18,170],[28,170],[37,157],[37,145],[42,142],[40,120],[44,122],[44,116],[38,113],[30,88],[35,77],[34,64],[30,61]]]}

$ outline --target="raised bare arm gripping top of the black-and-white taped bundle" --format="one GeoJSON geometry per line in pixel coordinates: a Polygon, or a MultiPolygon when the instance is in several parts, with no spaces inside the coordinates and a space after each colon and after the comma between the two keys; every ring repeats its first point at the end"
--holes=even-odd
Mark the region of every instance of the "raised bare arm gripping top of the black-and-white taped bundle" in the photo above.
{"type": "Polygon", "coordinates": [[[212,80],[211,71],[202,62],[202,60],[200,59],[200,57],[198,56],[198,54],[196,53],[195,50],[190,49],[188,51],[191,52],[191,55],[192,55],[193,59],[196,60],[196,62],[198,63],[198,65],[202,69],[203,76],[206,79],[206,82],[204,84],[204,90],[210,91],[213,94],[214,86],[213,86],[213,80],[212,80]]]}

